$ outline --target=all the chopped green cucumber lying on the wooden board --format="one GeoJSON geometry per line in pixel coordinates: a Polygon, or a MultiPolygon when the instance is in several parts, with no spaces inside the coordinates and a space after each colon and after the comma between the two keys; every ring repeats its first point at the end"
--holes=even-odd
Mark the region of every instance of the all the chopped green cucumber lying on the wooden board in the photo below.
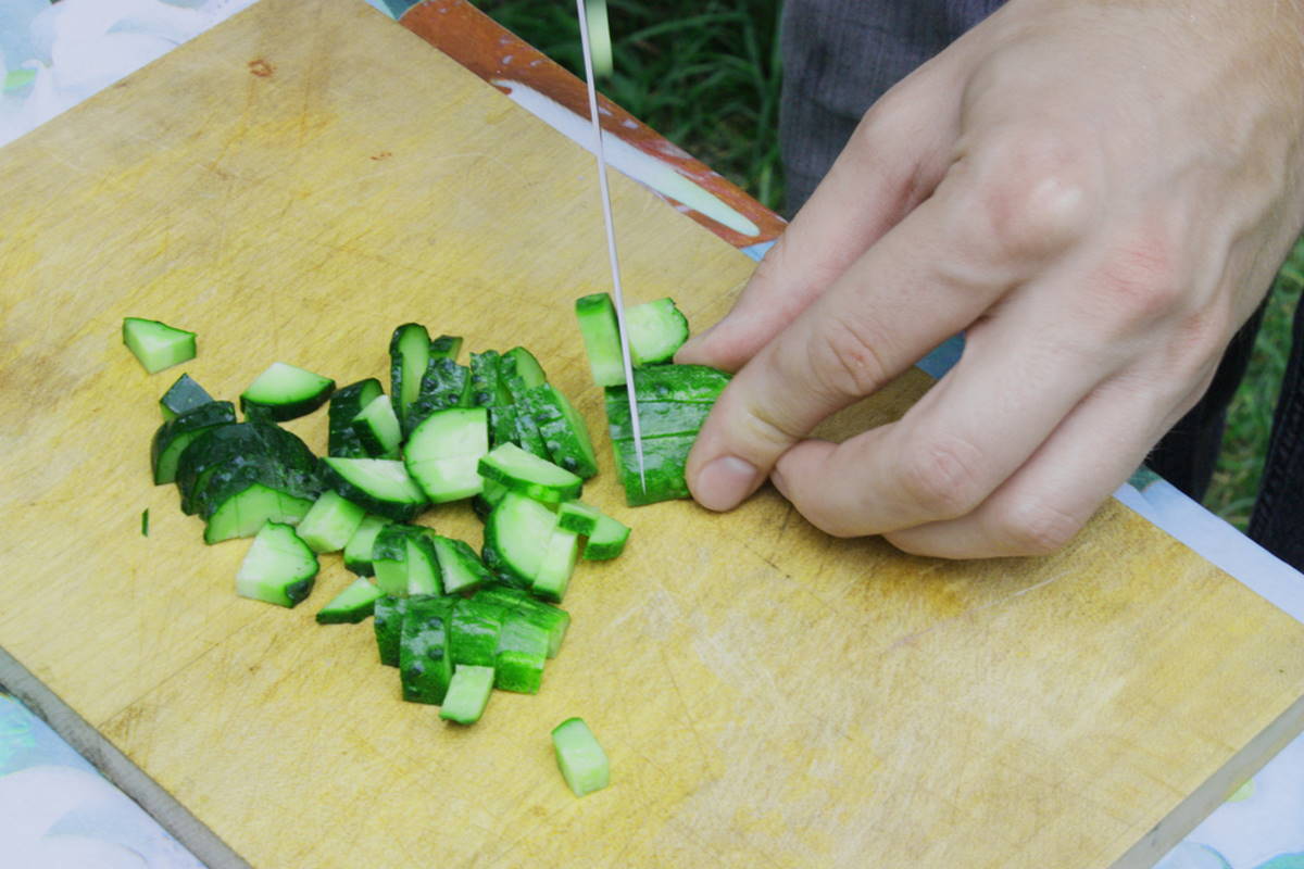
{"type": "MultiPolygon", "coordinates": [[[[728,375],[669,363],[689,335],[669,298],[627,311],[644,486],[614,306],[605,293],[585,296],[576,315],[593,379],[606,391],[627,503],[687,496],[683,464],[728,375]]],[[[150,373],[194,356],[193,332],[156,321],[128,318],[124,341],[150,373]]],[[[387,395],[376,378],[336,388],[329,377],[274,362],[239,396],[243,421],[233,403],[183,374],[159,400],[150,459],[154,482],[175,483],[181,509],[203,520],[206,543],[253,538],[237,594],[293,607],[313,590],[318,556],[340,552],[357,578],[317,621],[374,616],[379,659],[398,668],[402,697],[472,724],[493,688],[540,689],[570,624],[557,605],[576,562],[618,556],[630,529],[580,500],[597,473],[593,444],[535,356],[516,347],[471,353],[462,365],[462,344],[399,326],[387,395]],[[318,457],[278,423],[322,405],[327,455],[318,457]],[[417,522],[434,504],[467,499],[484,520],[479,554],[417,522]]],[[[582,795],[605,784],[606,760],[574,722],[558,727],[554,743],[582,795]]]]}

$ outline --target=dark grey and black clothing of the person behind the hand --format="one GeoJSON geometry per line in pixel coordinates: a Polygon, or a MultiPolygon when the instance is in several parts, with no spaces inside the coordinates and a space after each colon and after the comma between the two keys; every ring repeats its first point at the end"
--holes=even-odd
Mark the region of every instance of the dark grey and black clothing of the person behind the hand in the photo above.
{"type": "MultiPolygon", "coordinates": [[[[810,197],[879,96],[1001,0],[788,0],[780,146],[788,211],[810,197]]],[[[1148,464],[1194,499],[1222,446],[1227,405],[1249,362],[1262,307],[1232,339],[1204,399],[1155,446],[1148,464]]],[[[1295,311],[1290,363],[1249,535],[1304,569],[1304,305],[1295,311]]]]}

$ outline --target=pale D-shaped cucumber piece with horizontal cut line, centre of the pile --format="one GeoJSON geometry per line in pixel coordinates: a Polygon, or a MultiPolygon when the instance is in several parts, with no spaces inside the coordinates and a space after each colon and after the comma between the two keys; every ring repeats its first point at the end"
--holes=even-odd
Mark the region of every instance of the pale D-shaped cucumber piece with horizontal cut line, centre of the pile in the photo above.
{"type": "Polygon", "coordinates": [[[484,486],[480,459],[489,452],[485,408],[449,408],[412,430],[403,463],[432,503],[477,495],[484,486]]]}

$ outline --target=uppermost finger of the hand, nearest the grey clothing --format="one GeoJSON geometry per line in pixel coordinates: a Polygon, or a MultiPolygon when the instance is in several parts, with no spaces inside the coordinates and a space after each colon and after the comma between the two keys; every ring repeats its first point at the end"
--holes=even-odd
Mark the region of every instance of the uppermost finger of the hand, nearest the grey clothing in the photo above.
{"type": "Polygon", "coordinates": [[[958,117],[960,89],[938,81],[945,74],[926,66],[866,113],[734,309],[685,344],[677,362],[737,371],[931,193],[958,117]]]}

